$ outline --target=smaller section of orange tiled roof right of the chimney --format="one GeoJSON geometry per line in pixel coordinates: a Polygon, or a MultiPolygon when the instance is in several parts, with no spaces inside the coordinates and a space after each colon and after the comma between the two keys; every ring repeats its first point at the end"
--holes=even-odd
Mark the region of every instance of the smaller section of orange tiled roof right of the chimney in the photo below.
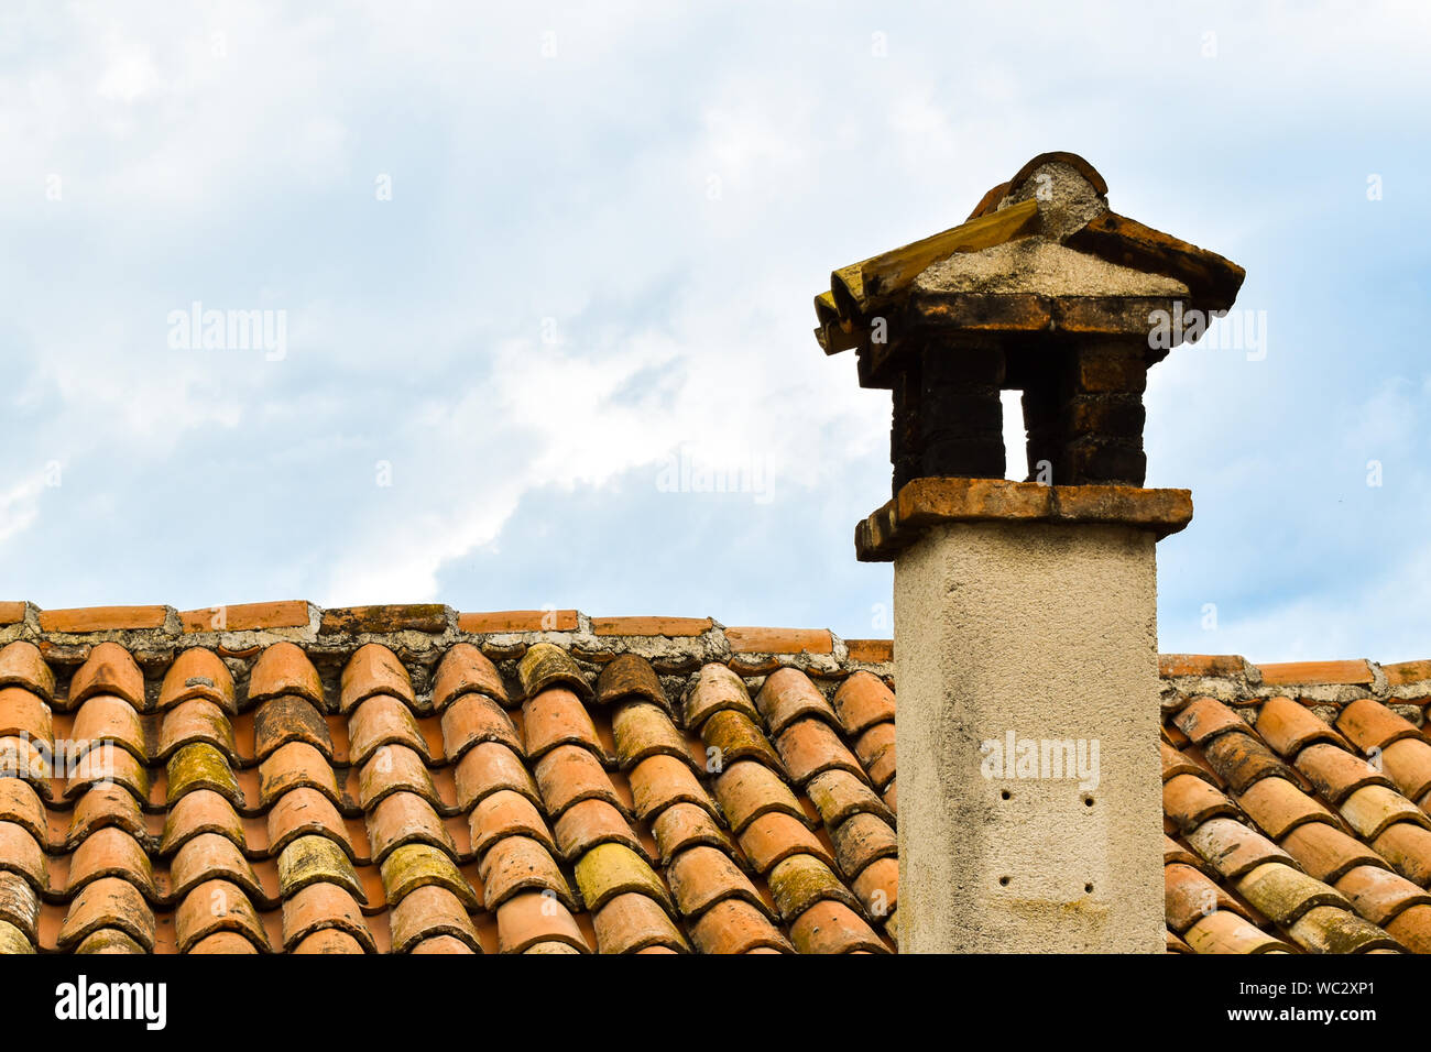
{"type": "Polygon", "coordinates": [[[1431,663],[1162,673],[1169,950],[1431,953],[1431,663]]]}

